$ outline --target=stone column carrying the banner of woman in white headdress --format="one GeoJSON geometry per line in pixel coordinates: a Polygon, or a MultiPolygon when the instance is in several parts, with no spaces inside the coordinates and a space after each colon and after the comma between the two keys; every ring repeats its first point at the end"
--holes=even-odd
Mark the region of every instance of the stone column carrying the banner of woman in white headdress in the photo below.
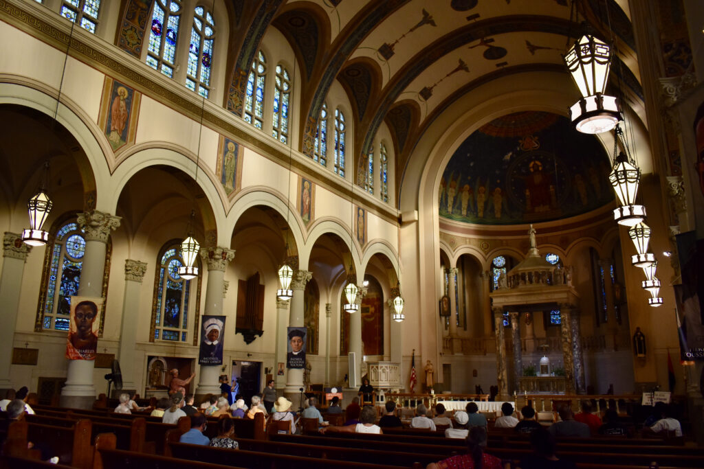
{"type": "MultiPolygon", "coordinates": [[[[203,315],[219,316],[222,314],[223,288],[225,287],[225,269],[227,264],[234,259],[234,250],[221,248],[201,248],[201,259],[208,264],[208,283],[206,285],[206,305],[203,315]]],[[[202,272],[201,272],[202,274],[202,272]]],[[[201,315],[202,316],[202,315],[201,315]]],[[[200,323],[203,323],[201,319],[200,323]]],[[[232,324],[226,326],[233,330],[232,324]]],[[[200,329],[198,334],[200,334],[200,329]]],[[[223,331],[223,333],[225,333],[223,331]]],[[[223,357],[224,358],[224,357],[223,357]]],[[[199,370],[196,394],[220,394],[220,368],[221,365],[201,365],[199,370]]]]}

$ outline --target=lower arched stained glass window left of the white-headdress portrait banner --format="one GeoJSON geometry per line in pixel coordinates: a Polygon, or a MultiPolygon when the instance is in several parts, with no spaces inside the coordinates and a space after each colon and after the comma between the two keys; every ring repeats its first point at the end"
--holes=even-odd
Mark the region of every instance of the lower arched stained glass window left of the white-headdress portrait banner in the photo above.
{"type": "Polygon", "coordinates": [[[191,304],[197,304],[191,300],[191,296],[199,290],[201,278],[190,282],[178,274],[178,269],[184,265],[184,262],[180,245],[177,243],[163,250],[157,262],[152,303],[152,330],[149,340],[186,342],[191,304]]]}

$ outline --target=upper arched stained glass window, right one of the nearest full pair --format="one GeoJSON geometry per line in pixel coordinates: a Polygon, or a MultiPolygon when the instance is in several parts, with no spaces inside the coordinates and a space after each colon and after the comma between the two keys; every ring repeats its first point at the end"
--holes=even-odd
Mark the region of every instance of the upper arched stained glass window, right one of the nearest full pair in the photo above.
{"type": "Polygon", "coordinates": [[[188,68],[186,87],[203,98],[210,92],[210,65],[213,63],[215,44],[215,21],[210,11],[196,6],[191,28],[191,43],[188,46],[188,68]]]}

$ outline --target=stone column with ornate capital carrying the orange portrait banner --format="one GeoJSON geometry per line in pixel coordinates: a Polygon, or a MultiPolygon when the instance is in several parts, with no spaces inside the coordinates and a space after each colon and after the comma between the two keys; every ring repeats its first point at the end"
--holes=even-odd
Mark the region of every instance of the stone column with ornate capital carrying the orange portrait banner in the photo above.
{"type": "MultiPolygon", "coordinates": [[[[86,240],[78,295],[102,297],[108,236],[111,231],[120,226],[120,217],[93,210],[78,214],[77,221],[78,225],[84,229],[86,240]]],[[[98,321],[97,318],[96,321],[98,321]]],[[[93,360],[68,361],[66,385],[61,390],[61,399],[59,400],[61,407],[92,408],[96,398],[93,370],[93,360]]]]}

